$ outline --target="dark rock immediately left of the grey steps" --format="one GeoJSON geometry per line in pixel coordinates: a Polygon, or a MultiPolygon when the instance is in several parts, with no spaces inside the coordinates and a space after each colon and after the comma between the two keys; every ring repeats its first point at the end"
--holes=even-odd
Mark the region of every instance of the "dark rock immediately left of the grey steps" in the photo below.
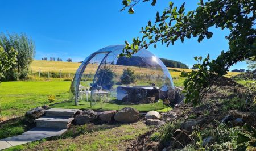
{"type": "Polygon", "coordinates": [[[44,109],[42,107],[32,108],[31,110],[26,112],[25,121],[27,121],[28,123],[34,123],[35,119],[38,119],[43,115],[44,109]]]}

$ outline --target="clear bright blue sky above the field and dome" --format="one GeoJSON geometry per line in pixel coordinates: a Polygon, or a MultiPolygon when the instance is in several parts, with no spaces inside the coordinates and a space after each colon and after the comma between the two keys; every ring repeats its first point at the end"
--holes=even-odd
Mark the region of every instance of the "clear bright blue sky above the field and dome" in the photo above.
{"type": "MultiPolygon", "coordinates": [[[[157,11],[162,12],[169,1],[157,1],[153,7],[150,2],[139,3],[134,7],[135,14],[129,14],[122,9],[122,1],[104,0],[8,0],[0,1],[1,32],[26,33],[36,44],[35,59],[42,57],[61,57],[63,60],[72,58],[82,61],[89,54],[108,45],[124,44],[133,37],[141,36],[141,27],[148,20],[155,20],[157,11]]],[[[185,4],[185,11],[195,10],[197,1],[176,0],[175,6],[185,4]]],[[[199,1],[198,1],[199,2],[199,1]]],[[[175,45],[158,44],[148,50],[158,57],[181,61],[190,68],[195,63],[194,56],[216,58],[222,50],[228,50],[225,36],[228,31],[213,28],[212,39],[179,40],[175,45]]],[[[245,62],[240,62],[230,69],[246,68],[245,62]]]]}

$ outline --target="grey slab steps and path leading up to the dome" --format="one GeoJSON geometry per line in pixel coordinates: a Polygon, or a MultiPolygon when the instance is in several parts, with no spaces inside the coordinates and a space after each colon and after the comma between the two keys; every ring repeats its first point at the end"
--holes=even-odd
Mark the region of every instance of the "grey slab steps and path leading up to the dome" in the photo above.
{"type": "Polygon", "coordinates": [[[22,135],[1,139],[0,150],[45,139],[47,137],[60,136],[67,131],[69,124],[71,124],[71,121],[74,119],[73,115],[77,111],[78,110],[56,108],[46,110],[45,113],[48,116],[43,116],[35,120],[35,128],[24,132],[22,135]]]}

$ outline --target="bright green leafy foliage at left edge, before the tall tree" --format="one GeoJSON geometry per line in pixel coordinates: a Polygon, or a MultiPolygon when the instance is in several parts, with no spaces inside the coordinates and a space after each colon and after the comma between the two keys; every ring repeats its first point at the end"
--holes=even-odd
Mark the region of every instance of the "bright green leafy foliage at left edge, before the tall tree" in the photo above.
{"type": "Polygon", "coordinates": [[[3,77],[3,73],[9,70],[16,63],[16,56],[18,52],[11,47],[8,51],[5,51],[0,45],[0,78],[3,77]]]}

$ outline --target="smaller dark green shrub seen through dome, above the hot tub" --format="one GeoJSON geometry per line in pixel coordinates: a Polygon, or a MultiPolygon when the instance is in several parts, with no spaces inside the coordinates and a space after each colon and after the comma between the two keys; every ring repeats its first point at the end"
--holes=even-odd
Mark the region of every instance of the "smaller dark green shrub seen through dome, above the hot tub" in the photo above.
{"type": "Polygon", "coordinates": [[[127,69],[123,69],[123,75],[120,77],[121,83],[130,84],[135,82],[134,70],[128,67],[127,69]]]}

